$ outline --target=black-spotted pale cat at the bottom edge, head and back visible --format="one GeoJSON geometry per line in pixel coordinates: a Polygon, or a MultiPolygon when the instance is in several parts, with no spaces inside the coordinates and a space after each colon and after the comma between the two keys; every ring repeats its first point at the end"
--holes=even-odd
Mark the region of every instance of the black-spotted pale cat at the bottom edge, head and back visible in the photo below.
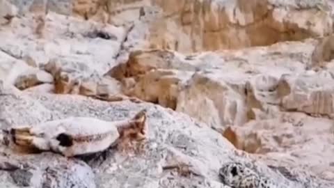
{"type": "Polygon", "coordinates": [[[219,177],[232,188],[278,188],[269,178],[260,177],[240,162],[229,162],[219,169],[219,177]]]}

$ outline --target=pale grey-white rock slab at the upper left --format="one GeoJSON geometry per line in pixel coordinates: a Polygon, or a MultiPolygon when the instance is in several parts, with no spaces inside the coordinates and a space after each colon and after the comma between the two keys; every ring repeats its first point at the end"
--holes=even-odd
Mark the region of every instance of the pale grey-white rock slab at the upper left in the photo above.
{"type": "Polygon", "coordinates": [[[115,65],[126,31],[122,26],[81,22],[79,18],[67,19],[53,12],[45,16],[44,38],[35,38],[35,29],[33,15],[17,19],[15,26],[2,29],[1,53],[14,59],[29,55],[38,67],[56,59],[71,77],[84,78],[92,74],[103,75],[115,65]],[[88,34],[93,31],[103,31],[113,37],[91,38],[88,34]]]}

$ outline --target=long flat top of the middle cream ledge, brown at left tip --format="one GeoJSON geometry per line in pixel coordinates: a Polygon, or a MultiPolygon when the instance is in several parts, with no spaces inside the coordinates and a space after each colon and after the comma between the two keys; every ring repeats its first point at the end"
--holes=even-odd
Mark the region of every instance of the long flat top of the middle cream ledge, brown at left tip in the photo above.
{"type": "Polygon", "coordinates": [[[195,54],[181,54],[167,49],[135,50],[129,54],[129,60],[126,63],[114,67],[106,75],[122,80],[127,77],[144,75],[145,72],[154,69],[193,72],[235,70],[249,75],[262,72],[279,78],[283,74],[303,72],[314,45],[314,40],[281,42],[269,47],[195,54]]]}

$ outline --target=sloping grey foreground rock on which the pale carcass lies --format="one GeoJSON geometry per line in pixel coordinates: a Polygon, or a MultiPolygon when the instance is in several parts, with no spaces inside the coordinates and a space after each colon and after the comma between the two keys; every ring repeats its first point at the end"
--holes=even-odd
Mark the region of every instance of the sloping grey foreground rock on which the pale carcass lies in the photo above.
{"type": "MultiPolygon", "coordinates": [[[[70,185],[76,187],[223,187],[218,180],[218,169],[221,164],[228,161],[253,163],[249,157],[237,155],[238,152],[223,136],[203,123],[152,104],[108,103],[80,95],[29,94],[11,89],[5,89],[0,97],[1,107],[4,107],[1,113],[1,124],[8,122],[10,125],[22,123],[33,125],[69,116],[120,120],[133,116],[143,107],[148,109],[149,136],[145,141],[143,152],[124,156],[111,148],[104,154],[107,157],[106,160],[100,159],[98,155],[95,159],[88,160],[88,164],[93,168],[91,170],[86,164],[79,162],[79,159],[66,159],[49,152],[18,154],[15,150],[2,145],[1,153],[6,154],[1,158],[3,162],[15,164],[14,159],[16,159],[27,166],[9,171],[9,176],[3,173],[2,177],[7,178],[6,183],[9,185],[17,187],[23,185],[40,187],[46,184],[51,187],[70,185]],[[173,170],[161,169],[162,166],[177,163],[190,164],[193,166],[191,171],[195,175],[186,178],[173,170]],[[33,169],[29,166],[38,167],[33,169]],[[92,171],[95,172],[95,178],[92,171]]],[[[6,125],[2,126],[6,127],[6,125]]],[[[330,182],[317,178],[305,182],[306,180],[296,177],[298,181],[294,182],[270,170],[264,164],[256,163],[255,168],[260,171],[260,174],[267,174],[269,178],[287,187],[303,187],[303,184],[311,182],[312,185],[331,187],[330,182]]],[[[305,177],[307,176],[303,176],[305,177]]]]}

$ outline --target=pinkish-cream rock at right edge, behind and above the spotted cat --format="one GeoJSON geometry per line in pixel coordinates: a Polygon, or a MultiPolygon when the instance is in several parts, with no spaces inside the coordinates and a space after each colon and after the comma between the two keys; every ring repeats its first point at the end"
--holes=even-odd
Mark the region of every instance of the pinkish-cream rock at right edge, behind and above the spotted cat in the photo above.
{"type": "MultiPolygon", "coordinates": [[[[239,147],[268,164],[304,166],[326,180],[333,164],[333,120],[304,113],[279,113],[277,118],[254,120],[232,128],[239,147]],[[316,126],[315,126],[316,125],[316,126]]],[[[226,136],[228,138],[228,136],[226,136]]],[[[236,141],[230,139],[232,143],[236,141]]]]}

